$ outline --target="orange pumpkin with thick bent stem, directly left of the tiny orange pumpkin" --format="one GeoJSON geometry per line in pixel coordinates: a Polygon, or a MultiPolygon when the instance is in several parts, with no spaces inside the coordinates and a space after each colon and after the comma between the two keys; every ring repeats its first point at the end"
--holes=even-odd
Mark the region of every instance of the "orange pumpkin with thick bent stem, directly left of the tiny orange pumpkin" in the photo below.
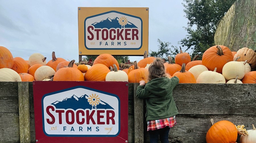
{"type": "Polygon", "coordinates": [[[59,69],[53,76],[53,81],[84,81],[84,75],[73,68],[75,60],[71,60],[67,68],[59,69]]]}

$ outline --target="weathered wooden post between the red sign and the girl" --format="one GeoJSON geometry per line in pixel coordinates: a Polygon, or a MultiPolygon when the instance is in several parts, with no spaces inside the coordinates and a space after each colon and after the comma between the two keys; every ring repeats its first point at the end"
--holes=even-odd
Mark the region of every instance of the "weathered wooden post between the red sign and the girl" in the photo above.
{"type": "Polygon", "coordinates": [[[139,83],[133,84],[134,89],[134,142],[144,142],[144,126],[143,126],[143,100],[137,98],[136,90],[139,83]]]}

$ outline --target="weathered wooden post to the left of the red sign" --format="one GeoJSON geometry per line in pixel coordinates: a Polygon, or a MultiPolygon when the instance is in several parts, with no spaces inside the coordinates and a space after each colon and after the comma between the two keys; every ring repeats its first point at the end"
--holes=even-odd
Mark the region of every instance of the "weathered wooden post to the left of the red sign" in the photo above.
{"type": "Polygon", "coordinates": [[[30,143],[28,82],[18,82],[20,143],[30,143]]]}

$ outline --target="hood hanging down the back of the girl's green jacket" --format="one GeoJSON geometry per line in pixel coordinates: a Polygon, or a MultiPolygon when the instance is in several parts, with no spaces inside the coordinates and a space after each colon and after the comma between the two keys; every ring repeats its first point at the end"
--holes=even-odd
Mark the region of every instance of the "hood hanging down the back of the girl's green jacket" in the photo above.
{"type": "Polygon", "coordinates": [[[159,77],[149,81],[145,85],[145,88],[147,88],[147,90],[149,90],[152,94],[163,97],[168,94],[168,91],[171,87],[170,84],[171,82],[167,77],[159,77]]]}

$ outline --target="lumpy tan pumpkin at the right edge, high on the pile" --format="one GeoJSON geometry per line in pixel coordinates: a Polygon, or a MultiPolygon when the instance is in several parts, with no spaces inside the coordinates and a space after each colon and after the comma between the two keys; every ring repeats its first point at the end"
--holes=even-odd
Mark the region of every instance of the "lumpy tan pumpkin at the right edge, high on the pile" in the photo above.
{"type": "Polygon", "coordinates": [[[256,53],[253,49],[249,49],[247,47],[243,47],[237,51],[234,55],[234,59],[240,57],[237,61],[245,61],[251,66],[251,69],[254,70],[256,68],[256,53]]]}

